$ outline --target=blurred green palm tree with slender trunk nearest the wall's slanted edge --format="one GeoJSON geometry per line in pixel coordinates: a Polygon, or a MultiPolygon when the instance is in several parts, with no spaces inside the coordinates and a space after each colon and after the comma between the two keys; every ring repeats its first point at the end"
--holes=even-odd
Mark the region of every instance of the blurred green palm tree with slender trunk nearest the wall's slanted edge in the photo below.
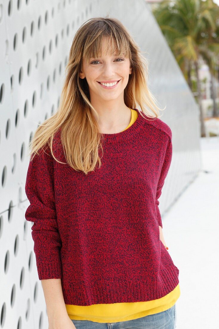
{"type": "Polygon", "coordinates": [[[190,87],[190,70],[192,66],[195,67],[201,136],[204,137],[206,134],[198,68],[201,59],[207,61],[208,58],[207,63],[210,63],[212,53],[219,53],[219,47],[212,39],[213,32],[218,38],[215,22],[219,18],[219,7],[212,0],[164,0],[153,10],[153,14],[190,87]],[[211,34],[209,40],[203,35],[206,31],[211,34]]]}

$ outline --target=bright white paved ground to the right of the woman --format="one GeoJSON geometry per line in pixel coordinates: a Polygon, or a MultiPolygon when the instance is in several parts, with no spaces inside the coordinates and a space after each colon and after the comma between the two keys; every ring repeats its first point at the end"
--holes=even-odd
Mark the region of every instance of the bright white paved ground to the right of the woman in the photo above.
{"type": "Polygon", "coordinates": [[[219,328],[219,137],[200,144],[202,170],[163,216],[164,239],[180,270],[177,329],[219,328]]]}

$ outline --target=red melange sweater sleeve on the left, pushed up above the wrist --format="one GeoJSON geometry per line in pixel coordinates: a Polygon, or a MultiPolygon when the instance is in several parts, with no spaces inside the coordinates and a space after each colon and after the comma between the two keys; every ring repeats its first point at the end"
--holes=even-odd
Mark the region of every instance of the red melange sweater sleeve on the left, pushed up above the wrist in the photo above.
{"type": "Polygon", "coordinates": [[[39,153],[30,161],[27,171],[25,192],[30,205],[25,218],[33,222],[31,234],[39,280],[59,279],[62,242],[55,210],[53,157],[50,148],[46,151],[41,148],[39,153]]]}

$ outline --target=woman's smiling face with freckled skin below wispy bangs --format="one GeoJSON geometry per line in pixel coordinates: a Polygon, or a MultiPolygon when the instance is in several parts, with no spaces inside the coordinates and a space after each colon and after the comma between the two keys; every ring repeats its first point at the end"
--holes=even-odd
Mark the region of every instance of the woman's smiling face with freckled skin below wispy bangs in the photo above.
{"type": "Polygon", "coordinates": [[[108,38],[103,38],[101,56],[82,62],[79,77],[87,80],[91,103],[96,100],[99,102],[117,100],[120,97],[123,99],[129,74],[132,73],[129,58],[118,56],[116,52],[112,54],[112,45],[109,46],[108,43],[108,38]]]}

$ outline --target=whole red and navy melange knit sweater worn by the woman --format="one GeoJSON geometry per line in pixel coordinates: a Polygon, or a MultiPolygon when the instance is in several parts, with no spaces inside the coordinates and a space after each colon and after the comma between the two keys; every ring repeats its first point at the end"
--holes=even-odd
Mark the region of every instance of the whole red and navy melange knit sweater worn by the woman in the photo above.
{"type": "Polygon", "coordinates": [[[65,164],[49,148],[29,163],[25,218],[33,222],[38,277],[61,278],[65,304],[149,301],[179,283],[159,235],[172,133],[142,115],[120,133],[103,134],[102,165],[87,175],[66,164],[60,130],[53,151],[65,164]]]}

